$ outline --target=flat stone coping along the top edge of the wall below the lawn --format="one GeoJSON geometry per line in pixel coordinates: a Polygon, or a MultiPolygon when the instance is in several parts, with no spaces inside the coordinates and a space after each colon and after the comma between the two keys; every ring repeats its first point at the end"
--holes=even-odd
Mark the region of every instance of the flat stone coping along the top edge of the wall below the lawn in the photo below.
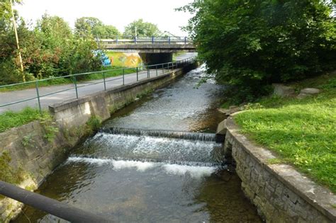
{"type": "Polygon", "coordinates": [[[245,151],[250,154],[257,163],[269,171],[271,175],[281,181],[281,183],[284,183],[293,193],[296,193],[296,195],[325,215],[325,217],[332,222],[336,222],[336,208],[332,207],[332,205],[336,204],[336,195],[327,188],[303,176],[302,173],[299,173],[290,165],[268,164],[269,159],[276,158],[276,155],[268,149],[256,146],[250,142],[247,137],[240,134],[240,128],[235,124],[232,117],[227,119],[226,128],[240,147],[245,149],[245,151]]]}

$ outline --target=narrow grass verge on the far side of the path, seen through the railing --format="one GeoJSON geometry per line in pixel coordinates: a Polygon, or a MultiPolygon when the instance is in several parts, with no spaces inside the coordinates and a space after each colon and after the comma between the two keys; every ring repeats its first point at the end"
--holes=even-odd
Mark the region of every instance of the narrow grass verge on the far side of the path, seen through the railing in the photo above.
{"type": "MultiPolygon", "coordinates": [[[[113,77],[113,76],[120,76],[123,74],[123,67],[104,67],[103,71],[107,71],[110,69],[117,69],[117,70],[111,70],[109,72],[105,72],[105,77],[113,77]]],[[[125,68],[125,74],[132,74],[136,72],[136,68],[125,68]]],[[[93,81],[93,80],[99,80],[103,79],[103,74],[101,72],[96,72],[93,74],[87,74],[87,75],[80,75],[77,76],[77,79],[79,79],[79,83],[84,81],[93,81]]],[[[40,80],[38,82],[39,87],[43,86],[55,86],[55,85],[62,85],[62,84],[73,84],[74,82],[70,78],[59,78],[59,79],[51,79],[51,80],[40,80]]],[[[35,88],[35,83],[29,83],[29,84],[21,84],[17,86],[10,86],[5,88],[0,88],[0,92],[7,92],[7,91],[20,91],[25,90],[29,88],[35,88]]]]}

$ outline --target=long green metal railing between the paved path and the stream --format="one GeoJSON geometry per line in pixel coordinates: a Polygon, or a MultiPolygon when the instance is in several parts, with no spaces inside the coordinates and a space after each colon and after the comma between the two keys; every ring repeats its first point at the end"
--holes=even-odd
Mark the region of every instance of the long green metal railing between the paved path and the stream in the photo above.
{"type": "MultiPolygon", "coordinates": [[[[134,83],[134,82],[142,81],[143,79],[150,79],[155,76],[160,76],[160,75],[167,74],[169,72],[173,72],[174,69],[183,67],[186,64],[194,63],[195,60],[196,60],[196,57],[189,57],[186,59],[181,59],[176,62],[167,62],[164,64],[142,65],[138,67],[108,69],[108,70],[103,70],[99,72],[86,72],[86,73],[72,74],[72,75],[67,75],[67,76],[57,76],[57,77],[52,77],[49,79],[38,79],[35,81],[27,81],[27,82],[18,83],[18,84],[4,85],[4,86],[0,86],[0,92],[1,92],[1,89],[4,89],[5,91],[11,91],[11,90],[22,89],[22,88],[35,88],[35,96],[28,97],[28,98],[21,98],[21,100],[18,100],[18,101],[11,101],[9,103],[0,104],[0,108],[9,107],[11,105],[17,105],[20,103],[27,103],[28,101],[35,100],[37,101],[38,109],[42,113],[43,105],[41,103],[41,99],[47,96],[52,96],[57,93],[62,93],[65,91],[72,91],[74,93],[74,96],[72,98],[78,99],[80,96],[79,95],[80,88],[85,88],[87,86],[101,84],[101,90],[99,89],[99,91],[106,91],[106,89],[111,87],[112,81],[114,82],[118,81],[118,83],[121,86],[125,85],[125,75],[126,74],[130,74],[130,73],[136,74],[136,79],[135,79],[136,81],[132,82],[134,83]],[[116,73],[118,73],[119,75],[118,76],[110,75],[110,74],[114,75],[116,73]],[[98,80],[96,79],[95,81],[90,81],[90,82],[84,82],[85,78],[91,74],[99,75],[101,76],[101,79],[98,79],[98,80]],[[42,88],[41,85],[48,86],[53,81],[57,81],[57,79],[68,79],[72,83],[67,84],[67,85],[62,85],[62,86],[65,86],[65,88],[57,88],[57,91],[43,93],[44,88],[42,88]]],[[[72,99],[72,98],[68,98],[68,99],[72,99]]]]}

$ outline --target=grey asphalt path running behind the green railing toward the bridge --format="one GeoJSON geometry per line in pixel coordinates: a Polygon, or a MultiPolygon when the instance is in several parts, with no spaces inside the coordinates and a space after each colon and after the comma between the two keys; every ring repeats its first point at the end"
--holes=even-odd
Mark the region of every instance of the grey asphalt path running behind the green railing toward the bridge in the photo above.
{"type": "MultiPolygon", "coordinates": [[[[177,60],[186,59],[188,57],[194,56],[195,53],[186,53],[184,55],[181,55],[177,57],[177,60]]],[[[164,69],[164,74],[167,74],[168,70],[164,69]]],[[[160,76],[162,74],[162,69],[158,69],[157,74],[155,69],[152,69],[150,71],[150,77],[160,76]]],[[[143,80],[147,79],[147,71],[139,72],[138,79],[143,80]]],[[[77,84],[78,87],[78,96],[79,98],[83,96],[87,96],[91,93],[96,93],[99,91],[104,90],[104,85],[102,82],[103,80],[95,80],[95,81],[86,81],[80,84],[77,84]],[[92,85],[89,85],[92,84],[92,85]],[[89,86],[88,86],[89,85],[89,86]]],[[[125,84],[131,84],[137,81],[137,75],[135,74],[125,74],[125,84]]],[[[106,79],[106,89],[113,88],[116,86],[123,85],[123,78],[122,76],[116,76],[106,79]]],[[[39,88],[40,96],[43,96],[48,93],[56,92],[56,91],[62,91],[67,88],[74,87],[74,84],[64,84],[64,85],[57,85],[57,86],[47,86],[47,87],[41,87],[39,88]]],[[[9,92],[3,92],[0,93],[0,105],[4,105],[6,103],[13,103],[15,101],[23,101],[28,98],[35,98],[37,96],[37,92],[35,88],[30,88],[22,91],[9,91],[9,92]]],[[[49,105],[53,105],[55,103],[60,103],[62,101],[67,101],[69,99],[76,98],[76,91],[75,89],[71,89],[68,91],[63,91],[60,93],[55,93],[50,96],[43,96],[40,98],[41,107],[43,109],[47,108],[49,105]]],[[[30,101],[17,103],[13,105],[8,105],[5,107],[0,108],[0,113],[3,113],[6,110],[21,110],[22,108],[25,108],[27,106],[38,108],[38,100],[33,99],[30,101]]]]}

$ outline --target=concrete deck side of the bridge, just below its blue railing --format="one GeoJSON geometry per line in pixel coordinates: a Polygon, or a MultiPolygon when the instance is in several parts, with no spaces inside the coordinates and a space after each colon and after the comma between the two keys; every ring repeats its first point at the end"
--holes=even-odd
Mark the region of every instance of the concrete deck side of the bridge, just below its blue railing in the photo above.
{"type": "Polygon", "coordinates": [[[138,53],[172,53],[172,52],[196,52],[191,44],[104,44],[106,50],[113,52],[138,52],[138,53]]]}

